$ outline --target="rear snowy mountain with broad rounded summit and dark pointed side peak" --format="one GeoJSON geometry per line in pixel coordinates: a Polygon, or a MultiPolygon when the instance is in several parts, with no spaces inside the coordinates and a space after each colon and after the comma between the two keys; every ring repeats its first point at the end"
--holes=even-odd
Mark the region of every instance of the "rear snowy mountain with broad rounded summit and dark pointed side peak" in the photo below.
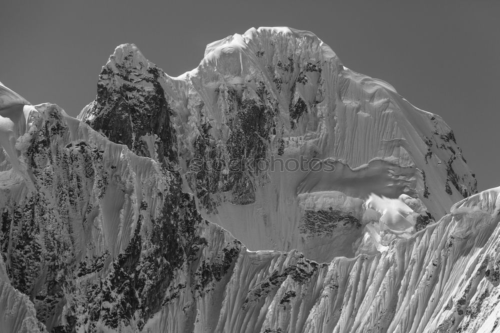
{"type": "Polygon", "coordinates": [[[439,116],[290,28],[210,43],[175,78],[120,45],[79,119],[138,155],[178,159],[203,216],[252,250],[295,248],[318,261],[376,253],[476,191],[439,116]],[[372,196],[411,212],[371,209],[372,196]]]}

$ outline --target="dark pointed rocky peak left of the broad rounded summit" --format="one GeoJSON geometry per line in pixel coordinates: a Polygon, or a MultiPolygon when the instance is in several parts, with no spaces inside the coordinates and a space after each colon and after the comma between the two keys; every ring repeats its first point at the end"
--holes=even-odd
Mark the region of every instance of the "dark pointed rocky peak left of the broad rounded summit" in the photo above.
{"type": "Polygon", "coordinates": [[[164,73],[143,57],[138,62],[132,61],[136,60],[137,51],[124,52],[126,55],[102,68],[97,97],[88,113],[99,117],[87,118],[86,122],[139,156],[154,157],[150,156],[152,150],[161,162],[175,161],[171,109],[159,81],[164,73]],[[151,142],[144,136],[150,137],[151,142]],[[149,148],[148,144],[154,147],[149,148]]]}

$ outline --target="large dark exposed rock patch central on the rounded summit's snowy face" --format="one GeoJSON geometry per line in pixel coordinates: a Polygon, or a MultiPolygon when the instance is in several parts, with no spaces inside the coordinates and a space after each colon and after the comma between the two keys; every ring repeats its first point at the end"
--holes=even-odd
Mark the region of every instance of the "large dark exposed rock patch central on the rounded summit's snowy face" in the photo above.
{"type": "Polygon", "coordinates": [[[262,99],[241,98],[233,87],[219,90],[226,98],[226,142],[216,141],[210,134],[210,122],[198,127],[193,158],[188,160],[186,177],[196,190],[201,203],[216,212],[218,201],[211,194],[230,192],[233,204],[255,202],[258,180],[265,181],[258,162],[268,157],[270,133],[275,132],[278,111],[262,99]],[[215,142],[213,144],[212,142],[215,142]],[[202,161],[202,162],[200,162],[202,161]],[[206,161],[217,163],[208,166],[206,161]],[[224,170],[226,170],[224,172],[224,170]]]}

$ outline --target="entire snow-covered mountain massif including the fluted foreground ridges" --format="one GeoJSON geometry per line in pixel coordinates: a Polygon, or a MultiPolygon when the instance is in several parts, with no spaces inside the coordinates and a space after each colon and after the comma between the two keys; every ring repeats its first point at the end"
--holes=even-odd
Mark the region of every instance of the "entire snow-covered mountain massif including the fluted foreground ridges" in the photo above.
{"type": "Polygon", "coordinates": [[[312,33],[120,45],[78,119],[0,85],[0,332],[500,330],[500,189],[312,33]]]}

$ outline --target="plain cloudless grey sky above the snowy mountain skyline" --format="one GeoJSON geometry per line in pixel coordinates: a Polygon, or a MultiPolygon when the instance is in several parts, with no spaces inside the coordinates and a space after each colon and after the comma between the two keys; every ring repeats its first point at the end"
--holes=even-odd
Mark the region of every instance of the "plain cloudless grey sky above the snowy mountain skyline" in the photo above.
{"type": "Polygon", "coordinates": [[[345,66],[389,82],[455,132],[479,189],[500,185],[500,1],[2,1],[0,81],[76,116],[118,44],[166,73],[254,26],[310,30],[345,66]]]}

